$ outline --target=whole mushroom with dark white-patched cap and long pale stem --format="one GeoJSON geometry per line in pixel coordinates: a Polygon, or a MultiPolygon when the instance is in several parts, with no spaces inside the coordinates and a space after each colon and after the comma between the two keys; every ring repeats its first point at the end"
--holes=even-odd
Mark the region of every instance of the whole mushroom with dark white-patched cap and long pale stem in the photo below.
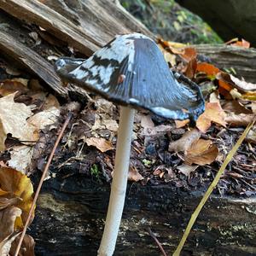
{"type": "Polygon", "coordinates": [[[119,131],[108,214],[98,255],[112,255],[125,203],[134,108],[166,119],[195,120],[204,111],[196,84],[179,84],[151,38],[140,33],[116,36],[87,60],[55,62],[62,79],[120,105],[119,131]]]}

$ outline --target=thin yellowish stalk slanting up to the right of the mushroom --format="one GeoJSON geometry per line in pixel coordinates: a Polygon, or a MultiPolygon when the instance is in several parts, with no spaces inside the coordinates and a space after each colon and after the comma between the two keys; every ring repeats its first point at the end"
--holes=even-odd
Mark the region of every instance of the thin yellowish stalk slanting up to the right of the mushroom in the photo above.
{"type": "Polygon", "coordinates": [[[212,194],[212,190],[217,186],[219,178],[224,173],[224,170],[225,170],[226,166],[229,164],[230,160],[232,160],[232,157],[236,153],[237,149],[241,145],[244,138],[247,136],[247,133],[251,130],[253,124],[254,124],[254,122],[251,123],[250,125],[247,125],[247,129],[245,131],[243,131],[243,133],[241,134],[241,137],[238,139],[235,146],[230,150],[230,153],[227,155],[227,157],[224,160],[222,166],[219,168],[216,176],[214,177],[211,185],[207,189],[207,192],[205,193],[205,195],[201,199],[201,202],[196,207],[195,212],[193,212],[191,218],[189,219],[189,224],[187,225],[187,228],[186,228],[186,230],[183,234],[183,237],[182,237],[181,241],[179,242],[176,251],[172,254],[172,256],[179,256],[179,254],[181,253],[183,245],[184,245],[185,241],[187,240],[187,237],[189,236],[189,232],[192,229],[193,225],[195,224],[195,220],[198,217],[199,213],[201,212],[202,207],[205,205],[209,196],[212,194]]]}

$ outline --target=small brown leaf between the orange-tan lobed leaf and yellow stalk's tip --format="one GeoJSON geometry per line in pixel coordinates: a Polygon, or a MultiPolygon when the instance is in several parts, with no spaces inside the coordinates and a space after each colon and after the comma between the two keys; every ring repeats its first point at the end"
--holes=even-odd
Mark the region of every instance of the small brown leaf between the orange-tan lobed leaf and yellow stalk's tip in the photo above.
{"type": "Polygon", "coordinates": [[[235,113],[229,113],[225,121],[230,125],[230,126],[243,126],[246,127],[250,123],[256,120],[256,114],[251,113],[251,114],[245,114],[245,113],[240,113],[240,114],[235,114],[235,113]]]}

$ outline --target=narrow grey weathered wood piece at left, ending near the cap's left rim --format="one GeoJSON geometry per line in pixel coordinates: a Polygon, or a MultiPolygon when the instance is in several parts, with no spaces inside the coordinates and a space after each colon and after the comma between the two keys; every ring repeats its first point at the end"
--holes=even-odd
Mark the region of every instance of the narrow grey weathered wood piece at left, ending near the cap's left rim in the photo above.
{"type": "Polygon", "coordinates": [[[59,96],[67,98],[67,90],[61,85],[61,79],[55,73],[52,65],[35,51],[26,47],[25,44],[21,44],[4,29],[0,30],[0,49],[1,55],[7,55],[21,66],[28,68],[40,79],[43,79],[59,96]]]}

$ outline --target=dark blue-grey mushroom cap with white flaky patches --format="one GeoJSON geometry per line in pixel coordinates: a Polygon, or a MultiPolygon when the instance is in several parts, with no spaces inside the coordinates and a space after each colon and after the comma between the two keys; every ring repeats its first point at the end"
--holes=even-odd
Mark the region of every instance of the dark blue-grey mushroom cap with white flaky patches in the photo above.
{"type": "Polygon", "coordinates": [[[168,119],[197,119],[204,111],[198,86],[179,84],[157,44],[143,34],[117,36],[87,60],[60,58],[55,69],[109,101],[168,119]]]}

